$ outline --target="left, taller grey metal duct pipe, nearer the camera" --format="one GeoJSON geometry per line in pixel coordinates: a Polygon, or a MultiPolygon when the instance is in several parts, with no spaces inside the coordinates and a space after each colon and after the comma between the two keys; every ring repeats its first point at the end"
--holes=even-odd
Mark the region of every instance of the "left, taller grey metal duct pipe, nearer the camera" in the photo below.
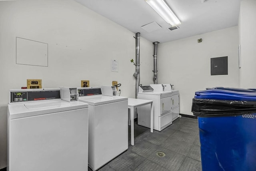
{"type": "Polygon", "coordinates": [[[136,33],[136,71],[133,76],[136,78],[135,98],[137,99],[140,85],[140,33],[136,33]]]}

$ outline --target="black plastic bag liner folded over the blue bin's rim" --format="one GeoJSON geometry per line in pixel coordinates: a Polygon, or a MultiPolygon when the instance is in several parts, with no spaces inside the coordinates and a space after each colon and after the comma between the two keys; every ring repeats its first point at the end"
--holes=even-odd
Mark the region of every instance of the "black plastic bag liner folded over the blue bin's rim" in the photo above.
{"type": "Polygon", "coordinates": [[[235,116],[256,113],[256,101],[193,98],[192,112],[199,117],[235,116]]]}

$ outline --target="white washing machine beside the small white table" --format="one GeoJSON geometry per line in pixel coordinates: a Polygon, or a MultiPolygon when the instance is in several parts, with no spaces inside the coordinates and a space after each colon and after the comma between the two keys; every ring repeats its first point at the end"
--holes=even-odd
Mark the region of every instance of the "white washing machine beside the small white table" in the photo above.
{"type": "Polygon", "coordinates": [[[128,149],[128,98],[102,95],[101,87],[78,93],[79,101],[88,103],[88,165],[95,171],[128,149]]]}

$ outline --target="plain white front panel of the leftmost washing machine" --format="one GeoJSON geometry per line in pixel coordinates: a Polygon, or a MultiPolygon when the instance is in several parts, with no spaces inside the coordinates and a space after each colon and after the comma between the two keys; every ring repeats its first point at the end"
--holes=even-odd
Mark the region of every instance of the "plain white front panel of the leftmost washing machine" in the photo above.
{"type": "Polygon", "coordinates": [[[9,171],[87,170],[88,108],[9,121],[9,171]]]}

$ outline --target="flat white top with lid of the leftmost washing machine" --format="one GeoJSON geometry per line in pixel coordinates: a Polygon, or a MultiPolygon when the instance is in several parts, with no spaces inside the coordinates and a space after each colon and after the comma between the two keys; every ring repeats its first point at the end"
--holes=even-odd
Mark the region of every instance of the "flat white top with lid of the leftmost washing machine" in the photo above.
{"type": "Polygon", "coordinates": [[[83,109],[87,107],[87,103],[82,103],[80,101],[68,102],[61,99],[30,103],[13,103],[8,104],[8,117],[9,119],[18,119],[22,117],[83,109]]]}

